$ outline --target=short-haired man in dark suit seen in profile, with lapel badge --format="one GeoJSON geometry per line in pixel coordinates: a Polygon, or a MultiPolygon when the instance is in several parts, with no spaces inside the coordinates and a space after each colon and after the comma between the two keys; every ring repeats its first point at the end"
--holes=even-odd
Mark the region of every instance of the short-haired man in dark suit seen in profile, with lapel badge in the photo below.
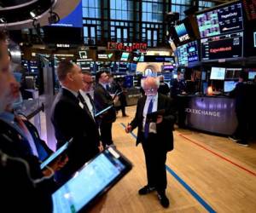
{"type": "Polygon", "coordinates": [[[57,148],[73,138],[68,148],[68,162],[57,172],[57,181],[67,181],[74,172],[99,153],[100,136],[79,89],[84,87],[83,73],[79,66],[63,60],[57,68],[62,89],[55,97],[51,121],[55,128],[57,148]]]}

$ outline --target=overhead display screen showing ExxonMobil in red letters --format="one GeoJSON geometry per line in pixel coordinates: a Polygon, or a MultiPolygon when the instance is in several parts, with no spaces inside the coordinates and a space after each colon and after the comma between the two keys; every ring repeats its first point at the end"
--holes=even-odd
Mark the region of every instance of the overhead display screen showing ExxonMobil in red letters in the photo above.
{"type": "Polygon", "coordinates": [[[201,39],[201,60],[242,57],[243,32],[201,39]]]}

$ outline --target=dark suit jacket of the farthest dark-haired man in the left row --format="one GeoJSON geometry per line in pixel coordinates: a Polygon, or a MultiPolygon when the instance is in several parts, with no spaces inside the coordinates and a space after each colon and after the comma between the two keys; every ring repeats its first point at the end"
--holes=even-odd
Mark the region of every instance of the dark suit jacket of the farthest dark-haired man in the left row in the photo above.
{"type": "MultiPolygon", "coordinates": [[[[113,105],[113,98],[109,95],[107,89],[105,89],[102,84],[98,83],[96,89],[94,90],[94,101],[97,111],[102,111],[103,109],[113,105]]],[[[114,107],[108,110],[108,112],[102,114],[102,122],[113,123],[116,119],[116,113],[114,107]]]]}

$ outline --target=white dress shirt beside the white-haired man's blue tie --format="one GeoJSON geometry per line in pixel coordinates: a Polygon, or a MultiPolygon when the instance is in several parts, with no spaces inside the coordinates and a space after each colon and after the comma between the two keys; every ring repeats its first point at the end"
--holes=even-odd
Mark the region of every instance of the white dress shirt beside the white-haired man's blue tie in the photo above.
{"type": "MultiPolygon", "coordinates": [[[[151,100],[153,101],[152,112],[155,112],[155,111],[157,111],[158,94],[154,95],[154,96],[147,96],[145,106],[144,106],[144,109],[143,109],[143,131],[144,131],[145,123],[146,123],[146,117],[147,117],[147,114],[148,114],[148,106],[149,106],[149,103],[150,103],[151,100]]],[[[149,131],[148,132],[156,134],[156,123],[151,122],[149,124],[149,131]]]]}

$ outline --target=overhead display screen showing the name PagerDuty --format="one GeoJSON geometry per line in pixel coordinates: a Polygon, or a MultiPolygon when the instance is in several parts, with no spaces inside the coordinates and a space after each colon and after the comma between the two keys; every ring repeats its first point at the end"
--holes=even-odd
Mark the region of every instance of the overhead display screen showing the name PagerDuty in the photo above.
{"type": "Polygon", "coordinates": [[[233,3],[207,13],[197,14],[196,19],[201,38],[243,29],[241,3],[233,3]]]}

